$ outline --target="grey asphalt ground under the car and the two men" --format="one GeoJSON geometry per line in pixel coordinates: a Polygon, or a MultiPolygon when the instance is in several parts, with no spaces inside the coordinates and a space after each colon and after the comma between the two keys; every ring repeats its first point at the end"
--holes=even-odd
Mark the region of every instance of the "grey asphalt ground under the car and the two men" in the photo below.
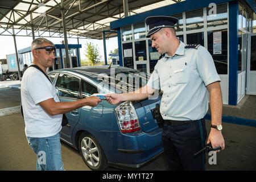
{"type": "MultiPolygon", "coordinates": [[[[0,82],[1,84],[1,82],[0,82]]],[[[0,113],[7,107],[19,106],[20,90],[0,88],[0,113]]],[[[209,133],[210,121],[206,121],[209,133]]],[[[207,155],[206,169],[212,170],[256,170],[256,128],[223,122],[222,134],[225,138],[225,150],[217,153],[216,164],[212,155],[207,155]]],[[[61,142],[64,168],[72,171],[89,171],[79,151],[61,142]]],[[[14,114],[0,116],[0,170],[36,170],[36,155],[28,146],[24,134],[24,121],[16,109],[14,114]]],[[[109,167],[107,170],[119,170],[109,167]]],[[[139,170],[165,171],[165,154],[147,163],[139,170]]]]}

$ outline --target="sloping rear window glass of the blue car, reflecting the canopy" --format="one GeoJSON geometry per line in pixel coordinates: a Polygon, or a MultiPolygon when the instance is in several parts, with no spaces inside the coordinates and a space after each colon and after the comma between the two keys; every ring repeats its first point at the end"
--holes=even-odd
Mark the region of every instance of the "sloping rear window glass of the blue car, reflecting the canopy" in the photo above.
{"type": "Polygon", "coordinates": [[[109,89],[117,93],[133,92],[147,84],[150,74],[138,71],[126,71],[120,73],[101,73],[97,80],[102,81],[102,86],[111,86],[109,89]]]}

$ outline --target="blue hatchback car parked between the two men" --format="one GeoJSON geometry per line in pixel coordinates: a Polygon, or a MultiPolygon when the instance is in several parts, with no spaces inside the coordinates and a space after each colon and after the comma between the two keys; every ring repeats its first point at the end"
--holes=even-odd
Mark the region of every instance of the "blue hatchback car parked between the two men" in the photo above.
{"type": "MultiPolygon", "coordinates": [[[[103,65],[58,69],[48,73],[61,102],[106,93],[130,92],[146,84],[148,75],[135,69],[103,65]]],[[[102,100],[66,113],[61,140],[80,151],[92,170],[109,166],[139,168],[163,152],[162,129],[152,110],[161,96],[111,105],[102,100]]]]}

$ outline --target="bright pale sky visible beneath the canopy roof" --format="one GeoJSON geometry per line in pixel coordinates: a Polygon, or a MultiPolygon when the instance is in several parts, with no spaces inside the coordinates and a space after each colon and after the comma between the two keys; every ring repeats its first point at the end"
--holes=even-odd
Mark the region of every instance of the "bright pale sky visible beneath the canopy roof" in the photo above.
{"type": "MultiPolygon", "coordinates": [[[[54,44],[61,44],[61,40],[64,38],[46,38],[51,40],[54,44]]],[[[32,36],[16,36],[17,49],[23,49],[30,47],[32,42],[32,36]]],[[[103,40],[96,39],[79,39],[79,44],[82,45],[80,48],[81,59],[85,59],[85,44],[86,42],[92,42],[94,45],[97,45],[100,49],[101,60],[104,61],[104,47],[103,40]]],[[[6,55],[15,53],[14,40],[13,36],[0,36],[0,59],[6,59],[6,55]]],[[[77,44],[77,39],[68,39],[69,44],[77,44]]],[[[109,52],[118,48],[117,37],[106,40],[106,52],[107,57],[109,57],[109,52]]]]}

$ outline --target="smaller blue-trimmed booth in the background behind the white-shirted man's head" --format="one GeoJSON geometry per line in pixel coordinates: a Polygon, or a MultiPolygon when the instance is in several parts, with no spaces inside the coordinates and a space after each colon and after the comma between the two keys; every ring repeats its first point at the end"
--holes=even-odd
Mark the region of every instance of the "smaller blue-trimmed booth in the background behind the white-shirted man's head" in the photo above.
{"type": "MultiPolygon", "coordinates": [[[[81,60],[79,54],[79,48],[82,47],[81,44],[68,44],[68,57],[65,54],[65,45],[64,44],[55,44],[56,52],[54,53],[55,60],[53,62],[52,68],[50,70],[62,69],[62,68],[75,68],[81,67],[81,60]]],[[[31,52],[31,47],[20,49],[18,51],[19,56],[21,57],[20,62],[22,65],[27,64],[28,66],[33,61],[33,56],[31,52]]]]}

